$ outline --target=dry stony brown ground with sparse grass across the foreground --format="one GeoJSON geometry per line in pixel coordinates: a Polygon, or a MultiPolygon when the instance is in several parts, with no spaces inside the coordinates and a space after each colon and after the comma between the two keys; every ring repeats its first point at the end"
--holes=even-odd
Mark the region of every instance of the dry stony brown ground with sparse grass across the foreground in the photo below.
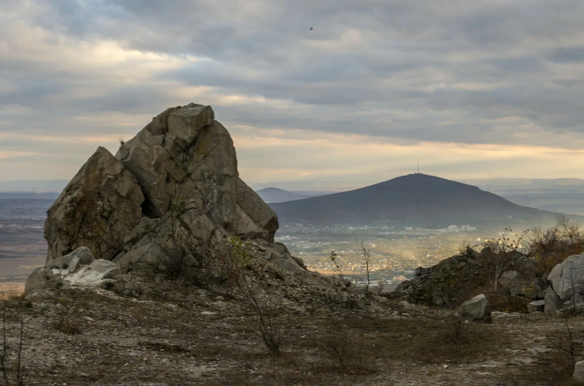
{"type": "MultiPolygon", "coordinates": [[[[383,318],[281,314],[282,354],[273,357],[246,304],[169,286],[145,300],[78,292],[65,316],[75,334],[55,329],[50,300],[5,301],[9,370],[22,318],[26,385],[570,384],[569,356],[546,338],[565,338],[557,315],[494,313],[493,324],[463,325],[457,335],[452,311],[390,301],[383,318]]],[[[582,335],[582,317],[568,323],[582,335]]]]}

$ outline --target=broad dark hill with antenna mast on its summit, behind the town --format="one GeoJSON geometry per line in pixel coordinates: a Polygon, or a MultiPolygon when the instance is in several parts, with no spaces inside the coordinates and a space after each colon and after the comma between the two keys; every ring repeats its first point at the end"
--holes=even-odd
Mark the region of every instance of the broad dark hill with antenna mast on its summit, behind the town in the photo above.
{"type": "MultiPolygon", "coordinates": [[[[271,203],[281,223],[500,228],[548,226],[555,213],[520,206],[478,187],[426,174],[408,174],[368,187],[271,203]]],[[[579,217],[579,216],[578,216],[579,217]]]]}

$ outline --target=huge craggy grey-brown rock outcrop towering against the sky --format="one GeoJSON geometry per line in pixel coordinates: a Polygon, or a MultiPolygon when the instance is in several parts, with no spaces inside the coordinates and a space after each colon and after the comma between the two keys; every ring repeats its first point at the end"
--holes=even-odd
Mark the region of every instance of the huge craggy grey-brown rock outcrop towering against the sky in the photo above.
{"type": "MultiPolygon", "coordinates": [[[[122,269],[164,266],[177,254],[196,266],[201,246],[227,234],[278,251],[277,229],[276,214],[239,178],[227,129],[210,106],[191,103],[154,117],[115,157],[99,148],[89,158],[48,211],[47,263],[86,246],[122,269]]],[[[303,271],[280,252],[266,259],[303,271]]]]}

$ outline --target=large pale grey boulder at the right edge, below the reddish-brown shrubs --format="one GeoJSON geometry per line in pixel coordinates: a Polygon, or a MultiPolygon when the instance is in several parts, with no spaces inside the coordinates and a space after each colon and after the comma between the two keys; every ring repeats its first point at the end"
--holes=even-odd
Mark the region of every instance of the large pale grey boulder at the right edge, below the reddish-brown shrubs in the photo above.
{"type": "Polygon", "coordinates": [[[583,303],[584,295],[584,253],[571,255],[554,266],[547,276],[550,286],[545,293],[545,311],[583,303]]]}

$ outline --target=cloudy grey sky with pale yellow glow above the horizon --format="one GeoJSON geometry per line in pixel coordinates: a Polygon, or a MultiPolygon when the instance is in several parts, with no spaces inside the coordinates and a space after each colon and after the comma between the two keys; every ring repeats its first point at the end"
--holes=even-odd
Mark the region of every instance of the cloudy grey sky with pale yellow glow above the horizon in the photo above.
{"type": "Polygon", "coordinates": [[[0,180],[210,104],[248,183],[584,178],[584,2],[0,0],[0,180]],[[313,30],[310,30],[313,27],[313,30]]]}

